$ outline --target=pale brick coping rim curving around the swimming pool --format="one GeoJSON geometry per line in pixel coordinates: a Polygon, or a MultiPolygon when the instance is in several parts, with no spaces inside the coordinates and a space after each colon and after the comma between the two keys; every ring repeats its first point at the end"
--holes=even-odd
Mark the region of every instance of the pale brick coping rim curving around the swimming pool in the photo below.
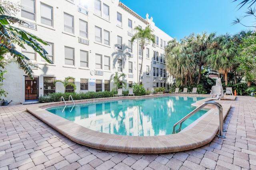
{"type": "MultiPolygon", "coordinates": [[[[118,99],[144,99],[151,97],[174,96],[173,94],[160,94],[150,96],[130,96],[130,97],[109,97],[100,99],[86,99],[75,101],[75,103],[91,103],[97,101],[110,101],[118,99]]],[[[184,96],[180,95],[179,96],[184,96]]],[[[187,95],[188,97],[209,97],[209,95],[187,95]]],[[[209,98],[209,100],[212,100],[209,98]]],[[[70,101],[71,102],[71,101],[70,101]]],[[[66,102],[71,104],[70,102],[66,102]]],[[[231,105],[216,101],[223,107],[223,118],[228,114],[231,105]]],[[[198,148],[208,144],[213,140],[219,130],[218,109],[211,109],[197,124],[190,129],[163,136],[124,136],[97,132],[77,125],[62,117],[46,111],[45,107],[63,105],[63,102],[42,103],[28,105],[27,111],[32,115],[54,128],[64,136],[78,144],[100,150],[114,152],[125,152],[132,154],[160,154],[170,152],[180,152],[198,148]]]]}

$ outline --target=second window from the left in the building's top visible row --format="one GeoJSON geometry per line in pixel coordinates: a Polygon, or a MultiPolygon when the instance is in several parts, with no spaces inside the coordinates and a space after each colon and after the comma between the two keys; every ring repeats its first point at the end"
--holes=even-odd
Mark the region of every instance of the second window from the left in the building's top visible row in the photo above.
{"type": "Polygon", "coordinates": [[[41,23],[48,26],[53,26],[51,6],[41,4],[41,23]]]}

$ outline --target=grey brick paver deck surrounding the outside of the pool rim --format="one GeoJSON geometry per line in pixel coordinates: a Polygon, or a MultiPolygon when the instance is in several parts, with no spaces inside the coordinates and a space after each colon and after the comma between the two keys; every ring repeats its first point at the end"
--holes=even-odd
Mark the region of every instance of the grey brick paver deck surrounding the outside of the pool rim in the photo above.
{"type": "Polygon", "coordinates": [[[26,111],[0,106],[0,170],[256,170],[256,98],[238,96],[225,121],[226,138],[170,154],[124,154],[72,142],[26,111]]]}

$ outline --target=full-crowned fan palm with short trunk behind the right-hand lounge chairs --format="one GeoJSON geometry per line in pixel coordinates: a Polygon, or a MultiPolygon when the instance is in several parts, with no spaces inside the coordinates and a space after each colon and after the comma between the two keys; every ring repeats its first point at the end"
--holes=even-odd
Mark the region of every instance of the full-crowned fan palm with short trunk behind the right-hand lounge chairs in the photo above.
{"type": "Polygon", "coordinates": [[[228,85],[228,71],[235,64],[237,56],[236,45],[229,34],[218,36],[209,49],[210,55],[206,62],[214,70],[224,75],[225,83],[228,85]]]}

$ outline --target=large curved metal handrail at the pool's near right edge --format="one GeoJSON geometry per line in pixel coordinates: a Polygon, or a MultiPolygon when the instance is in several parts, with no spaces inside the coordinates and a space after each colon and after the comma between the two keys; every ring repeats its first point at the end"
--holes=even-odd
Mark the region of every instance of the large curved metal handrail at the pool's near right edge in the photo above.
{"type": "Polygon", "coordinates": [[[215,105],[217,108],[218,108],[218,111],[219,111],[219,121],[220,121],[220,127],[219,127],[219,131],[220,131],[220,134],[217,135],[218,137],[220,138],[225,138],[225,136],[223,136],[222,132],[226,132],[226,130],[223,130],[223,108],[222,108],[222,105],[220,105],[220,103],[217,103],[215,101],[207,101],[207,102],[204,102],[202,105],[200,105],[199,107],[197,107],[196,109],[194,109],[192,112],[190,112],[188,115],[186,115],[184,118],[182,118],[180,121],[178,121],[177,123],[175,123],[173,125],[173,128],[172,128],[172,134],[176,133],[175,131],[175,127],[180,124],[180,128],[177,130],[178,132],[180,132],[181,130],[181,126],[182,126],[182,123],[184,121],[186,121],[188,118],[190,118],[191,116],[193,116],[195,113],[197,113],[198,111],[200,111],[203,107],[205,107],[206,105],[215,105]]]}

